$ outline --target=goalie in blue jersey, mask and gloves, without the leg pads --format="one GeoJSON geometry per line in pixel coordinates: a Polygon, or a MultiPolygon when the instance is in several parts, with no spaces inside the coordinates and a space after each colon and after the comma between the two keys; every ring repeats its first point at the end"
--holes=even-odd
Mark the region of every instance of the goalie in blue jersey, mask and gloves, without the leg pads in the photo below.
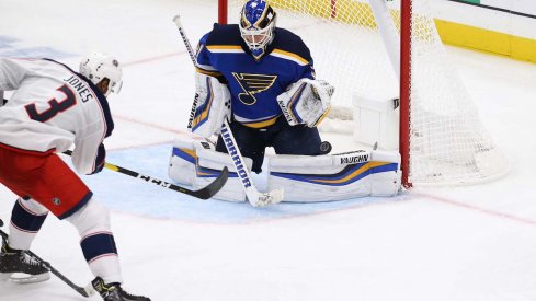
{"type": "MultiPolygon", "coordinates": [[[[193,131],[218,132],[230,91],[230,128],[242,155],[260,173],[266,147],[277,154],[321,154],[317,125],[330,108],[333,88],[315,80],[309,49],[287,30],[264,0],[250,0],[240,23],[215,24],[197,48],[196,86],[201,107],[193,131]],[[223,92],[221,92],[223,91],[223,92]],[[212,100],[214,100],[212,102],[212,100]],[[219,102],[219,104],[218,104],[219,102]],[[219,107],[217,107],[219,105],[219,107]],[[210,107],[212,106],[212,107],[210,107]],[[216,107],[216,108],[215,108],[216,107]]],[[[221,137],[218,152],[227,152],[221,137]]]]}

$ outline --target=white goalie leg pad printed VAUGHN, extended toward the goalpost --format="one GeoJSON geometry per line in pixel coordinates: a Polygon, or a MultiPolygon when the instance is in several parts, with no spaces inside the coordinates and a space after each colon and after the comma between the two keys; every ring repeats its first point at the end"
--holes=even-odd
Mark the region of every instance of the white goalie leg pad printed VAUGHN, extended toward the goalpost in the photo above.
{"type": "Polygon", "coordinates": [[[313,202],[395,196],[400,189],[398,152],[274,155],[270,157],[269,170],[269,188],[283,188],[285,201],[313,202]]]}

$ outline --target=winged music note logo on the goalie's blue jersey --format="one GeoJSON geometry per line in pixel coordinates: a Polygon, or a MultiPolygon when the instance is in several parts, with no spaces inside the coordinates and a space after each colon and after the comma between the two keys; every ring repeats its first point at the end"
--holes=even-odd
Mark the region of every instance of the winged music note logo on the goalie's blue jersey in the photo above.
{"type": "Polygon", "coordinates": [[[256,103],[254,94],[266,91],[272,86],[277,79],[277,76],[265,76],[265,74],[248,74],[248,73],[236,73],[232,76],[237,80],[238,84],[242,88],[244,93],[238,94],[238,99],[247,105],[253,105],[256,103]]]}

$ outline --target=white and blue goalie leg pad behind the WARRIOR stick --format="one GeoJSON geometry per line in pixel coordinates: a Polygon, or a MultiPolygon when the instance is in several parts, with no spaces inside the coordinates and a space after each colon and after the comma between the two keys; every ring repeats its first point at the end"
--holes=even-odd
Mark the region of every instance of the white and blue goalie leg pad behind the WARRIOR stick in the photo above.
{"type": "MultiPolygon", "coordinates": [[[[244,158],[247,169],[251,171],[252,160],[244,158]]],[[[192,185],[194,189],[210,184],[227,166],[229,178],[214,196],[216,199],[246,201],[246,193],[235,164],[228,153],[217,152],[214,146],[198,139],[181,136],[173,141],[169,175],[181,184],[192,185]]]]}

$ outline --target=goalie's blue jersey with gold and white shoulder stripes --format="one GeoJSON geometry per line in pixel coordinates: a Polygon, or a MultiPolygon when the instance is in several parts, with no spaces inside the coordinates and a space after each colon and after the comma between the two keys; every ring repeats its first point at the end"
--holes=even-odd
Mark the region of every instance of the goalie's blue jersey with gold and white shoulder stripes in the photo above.
{"type": "Polygon", "coordinates": [[[197,71],[226,81],[235,120],[253,128],[282,114],[276,97],[301,78],[315,78],[309,48],[299,36],[275,28],[274,40],[255,59],[237,24],[215,24],[197,47],[197,71]]]}

